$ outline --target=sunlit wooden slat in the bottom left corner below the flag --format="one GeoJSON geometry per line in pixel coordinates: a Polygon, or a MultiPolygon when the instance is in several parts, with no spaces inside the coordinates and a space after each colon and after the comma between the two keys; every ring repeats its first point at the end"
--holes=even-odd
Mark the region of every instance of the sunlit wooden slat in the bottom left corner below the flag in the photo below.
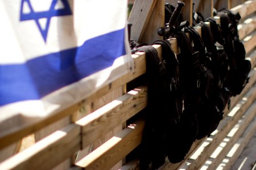
{"type": "Polygon", "coordinates": [[[0,164],[0,169],[51,169],[81,148],[81,128],[70,124],[0,164]]]}

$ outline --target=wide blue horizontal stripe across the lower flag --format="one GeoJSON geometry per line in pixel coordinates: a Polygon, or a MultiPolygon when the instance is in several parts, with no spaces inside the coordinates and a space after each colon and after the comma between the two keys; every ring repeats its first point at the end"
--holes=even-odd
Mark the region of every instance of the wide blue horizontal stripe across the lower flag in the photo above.
{"type": "Polygon", "coordinates": [[[40,56],[27,63],[0,65],[0,105],[36,100],[111,66],[126,54],[125,30],[87,40],[77,48],[40,56]]]}

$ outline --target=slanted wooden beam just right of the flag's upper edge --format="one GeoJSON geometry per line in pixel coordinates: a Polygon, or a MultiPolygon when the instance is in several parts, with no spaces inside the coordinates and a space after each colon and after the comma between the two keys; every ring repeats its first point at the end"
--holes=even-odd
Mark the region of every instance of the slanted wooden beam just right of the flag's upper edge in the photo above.
{"type": "Polygon", "coordinates": [[[128,22],[133,24],[131,27],[131,39],[142,42],[142,37],[147,29],[156,0],[138,0],[134,2],[128,22]]]}

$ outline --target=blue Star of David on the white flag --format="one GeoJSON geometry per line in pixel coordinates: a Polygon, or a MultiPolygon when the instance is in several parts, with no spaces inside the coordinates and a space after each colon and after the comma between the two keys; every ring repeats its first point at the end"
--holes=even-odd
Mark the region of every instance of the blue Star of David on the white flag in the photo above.
{"type": "Polygon", "coordinates": [[[53,16],[65,15],[72,15],[68,0],[52,0],[51,7],[48,11],[35,12],[30,0],[22,0],[20,6],[20,21],[35,20],[36,25],[38,26],[38,29],[44,39],[44,42],[46,42],[47,40],[47,34],[51,18],[53,16]],[[58,2],[61,3],[61,7],[56,9],[56,5],[58,2]],[[24,6],[26,6],[27,11],[24,11],[24,6]],[[40,24],[40,19],[46,19],[46,24],[44,25],[45,27],[40,24]]]}

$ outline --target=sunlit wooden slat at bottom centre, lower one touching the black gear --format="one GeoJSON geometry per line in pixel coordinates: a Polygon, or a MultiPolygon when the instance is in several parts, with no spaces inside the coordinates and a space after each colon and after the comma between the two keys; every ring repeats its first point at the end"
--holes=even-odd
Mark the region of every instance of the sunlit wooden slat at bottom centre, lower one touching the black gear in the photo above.
{"type": "Polygon", "coordinates": [[[76,165],[85,169],[110,169],[141,143],[143,128],[144,120],[134,122],[76,165]]]}

